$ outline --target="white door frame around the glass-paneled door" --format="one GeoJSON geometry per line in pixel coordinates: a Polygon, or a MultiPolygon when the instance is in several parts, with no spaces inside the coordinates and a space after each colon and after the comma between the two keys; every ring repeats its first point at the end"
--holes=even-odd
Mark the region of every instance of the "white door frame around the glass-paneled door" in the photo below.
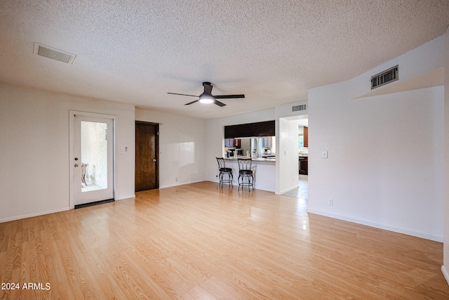
{"type": "Polygon", "coordinates": [[[116,195],[119,195],[117,191],[117,185],[116,185],[116,174],[117,174],[117,164],[116,164],[116,128],[117,128],[117,122],[119,119],[119,116],[116,115],[104,115],[104,114],[98,114],[96,112],[81,112],[79,110],[69,110],[69,207],[70,209],[75,208],[75,193],[74,193],[74,163],[73,163],[73,157],[74,157],[74,115],[81,115],[83,117],[95,117],[100,119],[112,119],[113,120],[113,137],[114,137],[114,143],[112,147],[112,176],[114,187],[113,187],[113,197],[114,200],[116,200],[116,195]]]}

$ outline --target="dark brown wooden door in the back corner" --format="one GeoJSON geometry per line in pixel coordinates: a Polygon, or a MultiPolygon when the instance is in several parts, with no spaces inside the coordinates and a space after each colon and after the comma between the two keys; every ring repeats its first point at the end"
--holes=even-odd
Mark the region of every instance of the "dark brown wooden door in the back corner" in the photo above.
{"type": "Polygon", "coordinates": [[[159,124],[135,122],[135,191],[159,188],[159,124]]]}

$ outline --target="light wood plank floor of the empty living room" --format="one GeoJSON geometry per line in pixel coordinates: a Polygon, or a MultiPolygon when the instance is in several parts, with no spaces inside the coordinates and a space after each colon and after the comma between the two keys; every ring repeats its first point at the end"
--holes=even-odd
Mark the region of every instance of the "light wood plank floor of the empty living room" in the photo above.
{"type": "Polygon", "coordinates": [[[449,299],[442,263],[441,243],[210,182],[0,223],[20,284],[0,299],[449,299]]]}

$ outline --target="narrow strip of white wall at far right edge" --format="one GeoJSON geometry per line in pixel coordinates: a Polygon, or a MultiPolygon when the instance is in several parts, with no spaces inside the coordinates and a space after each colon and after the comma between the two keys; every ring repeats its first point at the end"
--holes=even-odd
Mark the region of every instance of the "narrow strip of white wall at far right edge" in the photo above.
{"type": "Polygon", "coordinates": [[[443,247],[443,274],[446,282],[449,283],[449,27],[444,35],[444,247],[443,247]]]}

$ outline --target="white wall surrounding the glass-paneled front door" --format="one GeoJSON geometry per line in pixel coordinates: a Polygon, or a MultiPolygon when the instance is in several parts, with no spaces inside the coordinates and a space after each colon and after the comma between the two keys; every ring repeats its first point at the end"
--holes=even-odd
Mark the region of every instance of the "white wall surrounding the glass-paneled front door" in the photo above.
{"type": "Polygon", "coordinates": [[[116,199],[134,196],[134,106],[0,84],[0,222],[69,209],[69,110],[117,115],[116,199]]]}

